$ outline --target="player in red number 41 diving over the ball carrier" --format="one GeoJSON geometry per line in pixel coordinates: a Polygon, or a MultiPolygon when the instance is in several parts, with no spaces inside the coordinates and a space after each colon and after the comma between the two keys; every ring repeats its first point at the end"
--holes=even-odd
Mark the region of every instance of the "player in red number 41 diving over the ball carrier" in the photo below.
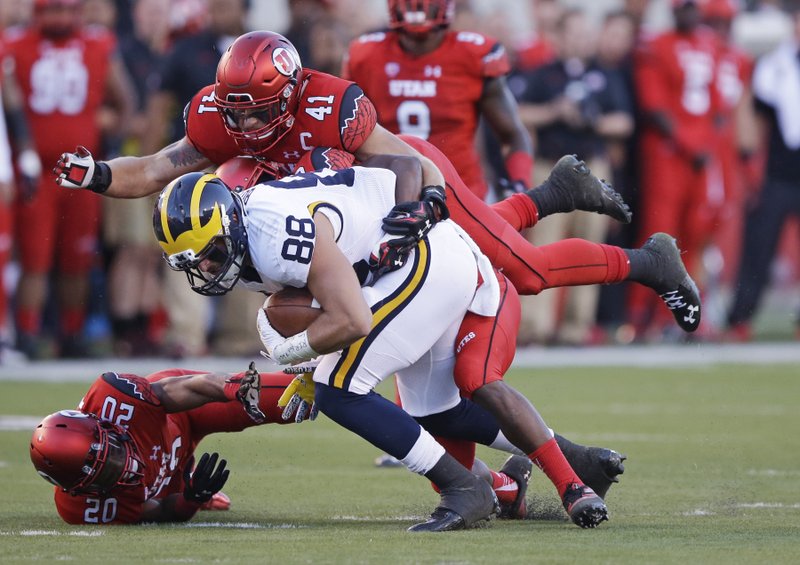
{"type": "Polygon", "coordinates": [[[521,294],[634,280],[663,295],[684,330],[694,331],[699,323],[694,283],[685,275],[677,247],[666,239],[641,250],[580,239],[536,248],[519,234],[541,217],[575,209],[630,220],[619,195],[582,162],[566,157],[541,186],[490,207],[455,180],[452,164],[433,146],[418,138],[404,141],[377,124],[375,109],[358,85],[302,68],[294,47],[279,34],[258,31],[239,37],[220,61],[216,86],[195,95],[185,118],[186,136],[153,155],[102,162],[83,148],[64,153],[54,170],[56,182],[136,198],[240,154],[290,170],[315,147],[345,150],[361,162],[385,154],[410,155],[422,163],[425,186],[449,186],[452,217],[521,294]],[[439,166],[412,147],[421,144],[440,156],[439,166]],[[445,182],[439,167],[450,169],[451,182],[445,182]]]}

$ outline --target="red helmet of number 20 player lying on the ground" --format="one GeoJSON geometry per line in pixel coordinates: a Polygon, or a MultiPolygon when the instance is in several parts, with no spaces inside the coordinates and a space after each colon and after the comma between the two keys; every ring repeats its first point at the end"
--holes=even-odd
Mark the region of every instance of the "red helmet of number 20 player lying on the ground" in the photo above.
{"type": "Polygon", "coordinates": [[[144,463],[128,433],[94,414],[61,410],[36,426],[31,461],[70,494],[102,494],[141,483],[144,463]]]}

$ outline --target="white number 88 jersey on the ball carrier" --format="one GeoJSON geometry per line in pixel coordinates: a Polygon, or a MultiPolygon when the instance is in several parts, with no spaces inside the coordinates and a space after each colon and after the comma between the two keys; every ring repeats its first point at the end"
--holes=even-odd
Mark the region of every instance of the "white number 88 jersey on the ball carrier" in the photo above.
{"type": "Polygon", "coordinates": [[[313,216],[333,225],[336,244],[351,263],[367,259],[385,235],[381,221],[395,203],[395,174],[388,169],[325,169],[259,184],[242,193],[253,267],[261,283],[249,290],[304,287],[316,243],[313,216]]]}

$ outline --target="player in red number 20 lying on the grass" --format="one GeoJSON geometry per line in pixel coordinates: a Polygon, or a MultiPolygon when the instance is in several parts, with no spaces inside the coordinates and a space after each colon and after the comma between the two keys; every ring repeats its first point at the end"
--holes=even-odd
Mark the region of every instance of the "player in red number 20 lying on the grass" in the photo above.
{"type": "MultiPolygon", "coordinates": [[[[78,410],[42,420],[31,460],[56,485],[56,509],[70,524],[181,522],[201,507],[225,509],[226,462],[205,454],[192,471],[197,444],[212,433],[295,421],[278,407],[293,378],[259,375],[254,364],[233,375],[105,373],[78,410]]],[[[293,415],[302,420],[307,412],[293,415]]]]}

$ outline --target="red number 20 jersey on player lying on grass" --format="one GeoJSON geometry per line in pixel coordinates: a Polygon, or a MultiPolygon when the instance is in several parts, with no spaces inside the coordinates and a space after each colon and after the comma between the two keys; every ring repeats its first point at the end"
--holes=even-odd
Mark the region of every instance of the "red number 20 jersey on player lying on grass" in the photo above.
{"type": "Polygon", "coordinates": [[[146,500],[183,491],[183,468],[194,451],[185,413],[168,414],[150,383],[194,371],[169,369],[147,377],[105,373],[78,408],[126,428],[145,463],[142,484],[119,487],[107,496],[71,496],[55,489],[56,508],[70,524],[131,524],[146,500]]]}

